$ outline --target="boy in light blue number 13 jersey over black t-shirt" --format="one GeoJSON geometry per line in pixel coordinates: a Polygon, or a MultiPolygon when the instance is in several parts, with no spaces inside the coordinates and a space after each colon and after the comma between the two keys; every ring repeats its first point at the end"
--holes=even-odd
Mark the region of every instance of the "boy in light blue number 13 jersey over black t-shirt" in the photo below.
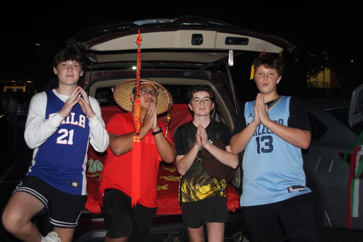
{"type": "Polygon", "coordinates": [[[245,151],[240,204],[252,242],[285,239],[320,241],[311,191],[305,186],[301,149],[310,144],[309,119],[303,104],[277,94],[282,58],[262,56],[253,62],[260,93],[247,102],[231,139],[233,153],[245,151]]]}

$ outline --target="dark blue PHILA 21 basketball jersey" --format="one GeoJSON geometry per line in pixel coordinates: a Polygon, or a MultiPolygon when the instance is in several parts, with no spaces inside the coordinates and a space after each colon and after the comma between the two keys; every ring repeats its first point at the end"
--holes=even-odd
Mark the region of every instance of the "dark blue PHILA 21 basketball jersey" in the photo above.
{"type": "MultiPolygon", "coordinates": [[[[46,95],[48,119],[61,110],[64,102],[53,90],[46,91],[46,95]]],[[[37,176],[63,192],[81,195],[89,132],[88,118],[77,103],[57,131],[40,145],[28,176],[37,176]]]]}

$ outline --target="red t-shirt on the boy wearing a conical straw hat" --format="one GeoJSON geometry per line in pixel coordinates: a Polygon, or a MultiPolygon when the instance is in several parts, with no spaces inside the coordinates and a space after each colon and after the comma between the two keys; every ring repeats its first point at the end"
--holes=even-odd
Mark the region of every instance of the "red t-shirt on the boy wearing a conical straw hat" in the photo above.
{"type": "MultiPolygon", "coordinates": [[[[165,134],[165,125],[158,121],[158,126],[165,134]]],[[[106,125],[106,130],[111,134],[129,134],[135,131],[131,112],[125,114],[115,114],[106,125]]],[[[172,141],[167,137],[168,141],[172,141]]],[[[141,185],[140,185],[140,204],[149,207],[156,207],[156,186],[158,184],[159,163],[161,159],[156,149],[154,135],[150,130],[141,141],[141,185]]],[[[132,179],[132,150],[115,156],[110,147],[107,148],[107,158],[105,167],[102,171],[102,180],[99,184],[99,198],[102,204],[102,195],[106,188],[121,190],[131,197],[132,179]]]]}

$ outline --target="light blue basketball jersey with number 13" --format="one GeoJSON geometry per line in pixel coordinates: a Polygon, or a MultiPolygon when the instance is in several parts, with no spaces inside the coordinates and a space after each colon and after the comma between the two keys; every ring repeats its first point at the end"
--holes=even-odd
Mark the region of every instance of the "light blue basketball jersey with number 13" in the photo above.
{"type": "MultiPolygon", "coordinates": [[[[290,97],[282,97],[269,109],[269,118],[287,126],[290,97]]],[[[254,102],[245,104],[246,125],[253,120],[254,102]]],[[[310,192],[305,188],[301,149],[279,138],[260,124],[243,157],[241,206],[270,204],[310,192]]]]}

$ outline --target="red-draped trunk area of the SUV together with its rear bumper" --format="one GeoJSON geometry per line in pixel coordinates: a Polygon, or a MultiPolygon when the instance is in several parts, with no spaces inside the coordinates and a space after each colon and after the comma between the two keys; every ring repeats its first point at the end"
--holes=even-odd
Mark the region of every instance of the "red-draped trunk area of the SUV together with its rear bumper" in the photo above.
{"type": "MultiPolygon", "coordinates": [[[[118,106],[101,107],[101,110],[105,123],[108,122],[112,115],[125,112],[118,106]]],[[[160,115],[158,120],[166,123],[166,117],[165,114],[160,115]]],[[[174,141],[176,129],[190,120],[192,120],[192,112],[189,111],[188,105],[174,104],[171,110],[171,122],[168,136],[174,141]]],[[[85,211],[79,219],[79,223],[82,224],[82,226],[78,226],[74,234],[74,241],[78,242],[89,241],[93,238],[103,238],[106,235],[98,193],[98,185],[101,180],[101,170],[105,163],[106,152],[96,152],[90,146],[87,155],[88,162],[86,175],[87,193],[89,194],[85,205],[85,211]]],[[[152,222],[149,236],[150,234],[178,233],[178,231],[181,233],[181,235],[178,234],[178,236],[182,236],[184,233],[183,231],[186,231],[186,227],[181,219],[181,209],[178,202],[179,179],[180,175],[176,171],[175,163],[160,163],[156,201],[158,211],[152,222]]],[[[233,186],[228,185],[227,206],[231,212],[236,212],[236,209],[239,207],[239,200],[240,196],[236,189],[233,186]]],[[[241,227],[241,217],[239,216],[239,218],[235,218],[234,220],[234,222],[236,222],[236,228],[241,227]]],[[[184,236],[185,234],[186,233],[184,233],[184,236]]],[[[153,239],[151,239],[151,241],[152,240],[153,239]]]]}

